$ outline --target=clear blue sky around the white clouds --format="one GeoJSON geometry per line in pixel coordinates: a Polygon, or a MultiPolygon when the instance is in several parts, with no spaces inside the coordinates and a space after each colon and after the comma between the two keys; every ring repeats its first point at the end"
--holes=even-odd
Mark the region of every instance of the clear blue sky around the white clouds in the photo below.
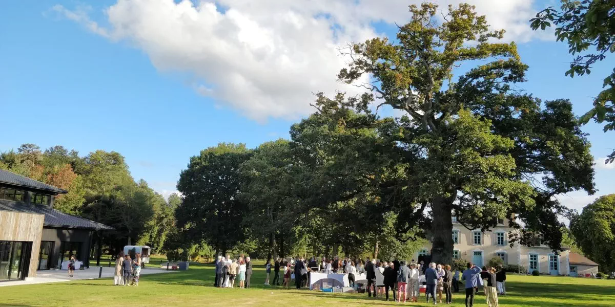
{"type": "MultiPolygon", "coordinates": [[[[258,104],[267,101],[264,98],[255,97],[253,104],[242,104],[249,99],[233,96],[233,88],[221,96],[199,94],[199,85],[213,91],[223,88],[212,81],[215,78],[207,71],[209,66],[191,71],[190,64],[188,68],[177,62],[175,66],[165,64],[162,60],[169,55],[156,51],[166,49],[149,47],[153,38],[140,41],[142,35],[135,32],[127,39],[129,34],[113,36],[92,28],[90,22],[109,27],[112,21],[106,19],[103,9],[114,2],[100,1],[85,9],[79,9],[83,7],[80,2],[60,0],[4,4],[0,10],[1,151],[24,143],[38,144],[42,149],[60,144],[82,155],[97,149],[115,150],[126,157],[135,179],[143,178],[168,195],[175,190],[189,157],[199,150],[218,142],[244,142],[255,147],[287,138],[289,126],[304,116],[309,99],[301,102],[298,111],[275,113],[266,107],[271,105],[258,104]],[[52,10],[58,4],[79,14],[74,18],[58,14],[52,10]],[[191,77],[194,75],[198,76],[191,77]],[[232,103],[232,99],[239,100],[232,103]]],[[[533,7],[546,4],[538,2],[533,7]]],[[[394,34],[394,28],[381,21],[371,20],[356,31],[365,29],[394,34]]],[[[521,34],[518,37],[524,40],[521,34]]],[[[566,44],[529,39],[518,47],[523,61],[530,65],[528,82],[520,87],[545,100],[571,99],[577,115],[587,111],[590,97],[600,91],[601,80],[615,66],[615,56],[611,56],[592,69],[590,76],[570,79],[564,76],[571,58],[566,44]]],[[[315,71],[317,67],[311,69],[314,74],[320,73],[315,71]]],[[[267,78],[258,74],[251,77],[267,78]]],[[[306,88],[309,90],[320,89],[306,88]]],[[[284,108],[293,107],[284,104],[284,108]]],[[[603,133],[595,123],[583,130],[590,134],[596,158],[612,151],[614,133],[603,133]]],[[[597,195],[615,193],[608,181],[614,172],[612,167],[597,168],[597,195]]],[[[592,199],[584,193],[571,193],[561,201],[578,209],[592,199]]]]}

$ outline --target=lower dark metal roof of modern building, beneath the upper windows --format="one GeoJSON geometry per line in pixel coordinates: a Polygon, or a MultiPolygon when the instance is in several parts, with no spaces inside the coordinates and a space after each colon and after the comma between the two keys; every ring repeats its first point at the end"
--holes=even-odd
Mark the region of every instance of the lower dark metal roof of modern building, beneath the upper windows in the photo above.
{"type": "Polygon", "coordinates": [[[71,216],[64,212],[58,211],[50,206],[42,204],[25,204],[14,202],[0,202],[0,210],[44,214],[46,227],[58,228],[77,228],[90,230],[113,230],[113,227],[94,222],[93,220],[84,219],[83,217],[71,216]]]}

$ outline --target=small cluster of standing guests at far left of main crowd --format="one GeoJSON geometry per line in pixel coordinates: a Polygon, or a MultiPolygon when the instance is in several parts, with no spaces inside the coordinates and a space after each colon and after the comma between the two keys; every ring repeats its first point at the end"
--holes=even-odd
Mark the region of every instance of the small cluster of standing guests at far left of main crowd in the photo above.
{"type": "Polygon", "coordinates": [[[239,288],[249,288],[252,279],[252,262],[250,257],[240,255],[237,259],[231,259],[231,255],[226,257],[218,256],[216,260],[216,277],[214,286],[219,288],[234,288],[235,280],[239,282],[239,288]]]}

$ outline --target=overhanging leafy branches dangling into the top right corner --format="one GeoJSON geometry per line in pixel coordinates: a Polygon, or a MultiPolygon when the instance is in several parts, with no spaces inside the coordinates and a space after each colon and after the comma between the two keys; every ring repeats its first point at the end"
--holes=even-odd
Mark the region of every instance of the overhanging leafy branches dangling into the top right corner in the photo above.
{"type": "MultiPolygon", "coordinates": [[[[615,52],[615,2],[609,0],[561,0],[560,9],[547,7],[531,20],[531,28],[542,30],[555,28],[557,41],[568,42],[571,55],[577,55],[570,63],[566,76],[590,74],[595,64],[615,52]]],[[[615,130],[615,68],[604,79],[603,90],[595,96],[593,108],[579,122],[594,119],[606,122],[605,131],[615,130]]],[[[605,163],[613,163],[615,152],[605,163]]]]}

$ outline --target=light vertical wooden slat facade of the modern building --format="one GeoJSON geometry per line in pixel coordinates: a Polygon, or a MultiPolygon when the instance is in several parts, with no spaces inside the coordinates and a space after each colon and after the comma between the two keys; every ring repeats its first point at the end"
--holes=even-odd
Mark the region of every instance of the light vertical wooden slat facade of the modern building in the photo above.
{"type": "Polygon", "coordinates": [[[32,243],[28,277],[36,276],[41,249],[44,214],[0,211],[0,241],[27,241],[32,243]]]}

